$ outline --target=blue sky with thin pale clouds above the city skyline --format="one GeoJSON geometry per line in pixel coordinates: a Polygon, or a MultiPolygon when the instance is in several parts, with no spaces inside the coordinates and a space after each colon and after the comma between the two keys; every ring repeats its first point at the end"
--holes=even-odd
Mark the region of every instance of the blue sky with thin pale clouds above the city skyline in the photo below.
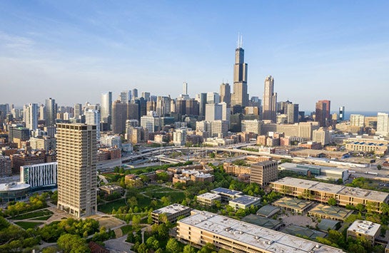
{"type": "Polygon", "coordinates": [[[238,33],[248,93],[388,111],[389,1],[0,1],[0,103],[100,103],[138,88],[191,97],[233,86],[238,33]]]}

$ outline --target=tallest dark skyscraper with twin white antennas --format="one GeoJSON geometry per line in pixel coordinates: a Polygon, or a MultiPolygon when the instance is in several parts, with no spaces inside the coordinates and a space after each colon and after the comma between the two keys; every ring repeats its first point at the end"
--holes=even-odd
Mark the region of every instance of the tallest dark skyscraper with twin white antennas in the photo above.
{"type": "Polygon", "coordinates": [[[233,105],[248,105],[247,63],[244,63],[242,38],[238,39],[238,47],[235,49],[235,65],[233,67],[233,94],[231,95],[231,106],[233,105]]]}

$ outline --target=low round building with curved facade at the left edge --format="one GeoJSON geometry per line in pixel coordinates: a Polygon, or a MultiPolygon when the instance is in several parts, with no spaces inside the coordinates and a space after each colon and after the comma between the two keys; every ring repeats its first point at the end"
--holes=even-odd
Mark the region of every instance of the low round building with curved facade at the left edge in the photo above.
{"type": "Polygon", "coordinates": [[[23,200],[29,196],[30,185],[23,182],[9,182],[0,184],[1,202],[23,200]]]}

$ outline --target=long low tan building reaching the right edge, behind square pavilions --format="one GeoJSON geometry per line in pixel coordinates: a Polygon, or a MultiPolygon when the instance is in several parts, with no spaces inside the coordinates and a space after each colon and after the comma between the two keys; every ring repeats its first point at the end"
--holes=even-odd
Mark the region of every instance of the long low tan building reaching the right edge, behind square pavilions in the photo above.
{"type": "Polygon", "coordinates": [[[309,200],[327,203],[332,197],[337,205],[345,207],[346,205],[362,204],[365,207],[373,209],[373,212],[381,212],[380,204],[388,203],[389,193],[378,192],[374,190],[365,190],[357,187],[348,187],[344,185],[333,185],[325,182],[316,182],[303,180],[293,177],[284,177],[281,180],[272,182],[271,186],[276,192],[286,195],[303,197],[309,200]]]}

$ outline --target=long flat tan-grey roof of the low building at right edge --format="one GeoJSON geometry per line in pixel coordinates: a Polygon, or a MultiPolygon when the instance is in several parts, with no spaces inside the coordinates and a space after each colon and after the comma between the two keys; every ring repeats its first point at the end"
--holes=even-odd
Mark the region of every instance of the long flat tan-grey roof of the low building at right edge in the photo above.
{"type": "Polygon", "coordinates": [[[330,192],[333,194],[346,195],[350,197],[360,197],[365,200],[372,200],[378,202],[385,202],[388,199],[389,193],[378,192],[375,190],[365,190],[358,187],[348,187],[344,185],[333,185],[326,182],[316,182],[304,180],[294,177],[284,177],[281,180],[273,182],[275,184],[287,185],[290,187],[300,187],[309,190],[316,190],[321,192],[330,192]]]}

